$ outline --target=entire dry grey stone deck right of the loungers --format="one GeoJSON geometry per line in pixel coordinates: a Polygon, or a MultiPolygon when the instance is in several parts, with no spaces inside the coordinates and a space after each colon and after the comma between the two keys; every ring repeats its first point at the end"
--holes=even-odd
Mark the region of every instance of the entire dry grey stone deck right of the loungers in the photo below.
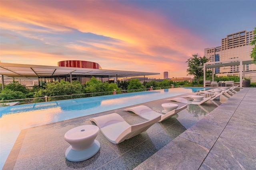
{"type": "Polygon", "coordinates": [[[243,88],[135,169],[256,169],[256,88],[243,88]]]}

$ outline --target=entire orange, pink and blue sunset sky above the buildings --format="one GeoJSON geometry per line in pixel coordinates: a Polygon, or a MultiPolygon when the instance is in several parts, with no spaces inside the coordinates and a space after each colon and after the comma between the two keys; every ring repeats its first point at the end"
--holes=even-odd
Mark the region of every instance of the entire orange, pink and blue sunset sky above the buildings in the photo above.
{"type": "Polygon", "coordinates": [[[84,60],[102,69],[187,76],[187,59],[230,33],[256,26],[256,1],[1,0],[2,63],[57,66],[84,60]]]}

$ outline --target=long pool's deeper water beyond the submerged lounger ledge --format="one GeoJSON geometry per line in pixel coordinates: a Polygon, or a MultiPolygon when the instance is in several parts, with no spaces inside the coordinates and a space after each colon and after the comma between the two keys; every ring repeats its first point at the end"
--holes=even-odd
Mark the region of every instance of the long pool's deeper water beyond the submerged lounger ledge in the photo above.
{"type": "Polygon", "coordinates": [[[206,89],[208,88],[170,88],[0,107],[1,169],[22,129],[206,89]]]}

